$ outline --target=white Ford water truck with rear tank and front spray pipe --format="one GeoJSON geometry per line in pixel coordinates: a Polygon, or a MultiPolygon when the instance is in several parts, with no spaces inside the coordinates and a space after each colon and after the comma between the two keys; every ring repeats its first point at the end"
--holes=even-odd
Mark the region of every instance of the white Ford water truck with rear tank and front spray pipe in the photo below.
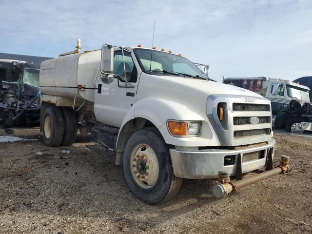
{"type": "Polygon", "coordinates": [[[116,151],[131,192],[148,204],[172,198],[182,178],[219,178],[213,192],[223,197],[242,187],[229,184],[229,176],[273,168],[270,100],[211,81],[171,51],[77,48],[40,66],[46,145],[71,145],[78,128],[91,132],[116,151]]]}

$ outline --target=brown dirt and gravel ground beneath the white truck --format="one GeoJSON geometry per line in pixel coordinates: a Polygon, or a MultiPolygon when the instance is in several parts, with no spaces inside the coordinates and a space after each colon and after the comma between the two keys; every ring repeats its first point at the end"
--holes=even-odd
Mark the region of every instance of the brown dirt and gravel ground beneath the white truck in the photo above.
{"type": "Polygon", "coordinates": [[[129,191],[114,156],[85,147],[88,138],[49,148],[38,127],[13,136],[39,140],[0,143],[0,233],[312,233],[311,138],[274,135],[274,164],[290,156],[290,174],[224,199],[206,180],[184,180],[173,200],[150,206],[129,191]]]}

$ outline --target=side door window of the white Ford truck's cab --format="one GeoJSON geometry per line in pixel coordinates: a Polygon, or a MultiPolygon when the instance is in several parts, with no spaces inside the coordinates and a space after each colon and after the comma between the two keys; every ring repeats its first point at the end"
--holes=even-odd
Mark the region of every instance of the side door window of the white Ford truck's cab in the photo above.
{"type": "MultiPolygon", "coordinates": [[[[128,82],[137,82],[137,68],[128,51],[123,51],[125,67],[123,67],[122,51],[117,50],[114,53],[114,74],[125,78],[128,82]],[[124,69],[125,68],[125,69],[124,69]],[[126,74],[124,74],[126,70],[126,74]]],[[[119,81],[124,82],[122,79],[119,81]]]]}

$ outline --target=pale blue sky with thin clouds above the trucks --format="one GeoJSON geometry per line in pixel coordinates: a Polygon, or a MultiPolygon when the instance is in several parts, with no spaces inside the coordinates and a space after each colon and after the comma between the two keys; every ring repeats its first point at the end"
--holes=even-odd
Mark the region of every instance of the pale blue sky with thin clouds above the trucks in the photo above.
{"type": "Polygon", "coordinates": [[[154,46],[209,64],[209,77],[312,76],[312,0],[0,0],[0,52],[154,46]]]}

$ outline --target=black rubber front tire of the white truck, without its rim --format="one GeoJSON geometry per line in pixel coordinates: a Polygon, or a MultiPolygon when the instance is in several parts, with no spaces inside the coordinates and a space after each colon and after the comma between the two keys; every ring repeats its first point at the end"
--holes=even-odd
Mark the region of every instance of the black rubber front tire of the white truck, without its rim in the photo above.
{"type": "Polygon", "coordinates": [[[174,175],[168,146],[151,129],[139,129],[129,137],[123,153],[123,171],[133,195],[151,205],[170,200],[179,191],[182,183],[182,178],[174,175]],[[131,155],[133,150],[140,144],[146,144],[152,148],[157,157],[159,173],[155,185],[151,188],[139,186],[131,171],[131,155]]]}

